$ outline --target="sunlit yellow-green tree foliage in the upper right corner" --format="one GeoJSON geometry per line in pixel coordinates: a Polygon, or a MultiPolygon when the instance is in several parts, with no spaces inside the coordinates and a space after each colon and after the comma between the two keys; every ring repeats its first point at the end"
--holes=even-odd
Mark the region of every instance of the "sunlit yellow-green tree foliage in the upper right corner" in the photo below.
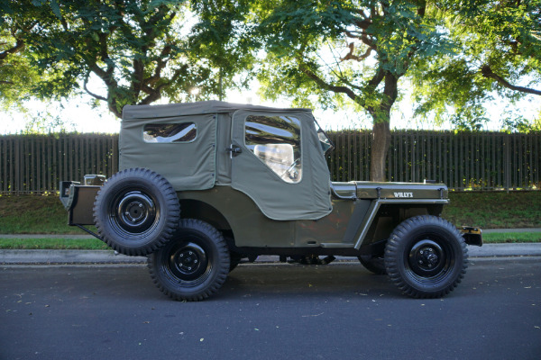
{"type": "MultiPolygon", "coordinates": [[[[541,0],[444,0],[432,11],[445,19],[455,51],[426,59],[412,72],[417,114],[475,128],[496,96],[512,104],[541,95],[541,0]]],[[[502,118],[506,128],[524,129],[516,111],[502,118]]]]}

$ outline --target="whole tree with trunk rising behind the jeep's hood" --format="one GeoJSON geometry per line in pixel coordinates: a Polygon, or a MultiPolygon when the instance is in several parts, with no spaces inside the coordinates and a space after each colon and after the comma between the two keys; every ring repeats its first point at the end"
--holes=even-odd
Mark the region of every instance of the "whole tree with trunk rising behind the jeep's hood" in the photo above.
{"type": "Polygon", "coordinates": [[[299,104],[344,98],[372,119],[372,181],[383,181],[390,116],[400,79],[417,58],[450,46],[426,1],[277,0],[256,9],[269,51],[261,73],[266,94],[292,94],[299,104]],[[330,59],[330,60],[327,60],[330,59]]]}

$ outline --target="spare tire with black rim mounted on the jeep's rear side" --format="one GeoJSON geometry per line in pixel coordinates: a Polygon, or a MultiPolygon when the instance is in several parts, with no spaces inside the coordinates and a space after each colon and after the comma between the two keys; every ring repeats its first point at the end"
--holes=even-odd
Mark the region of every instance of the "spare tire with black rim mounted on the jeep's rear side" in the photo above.
{"type": "Polygon", "coordinates": [[[179,226],[177,193],[149,169],[111,176],[96,195],[94,222],[100,238],[119,253],[145,256],[165,245],[179,226]]]}

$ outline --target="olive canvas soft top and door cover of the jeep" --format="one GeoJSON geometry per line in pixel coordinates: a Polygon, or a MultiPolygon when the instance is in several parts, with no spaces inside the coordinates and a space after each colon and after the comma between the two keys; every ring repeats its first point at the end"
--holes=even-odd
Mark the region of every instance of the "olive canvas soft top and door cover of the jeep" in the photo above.
{"type": "Polygon", "coordinates": [[[165,105],[124,106],[120,169],[149,168],[163,175],[176,191],[201,191],[232,186],[249,197],[273,220],[316,220],[332,210],[329,172],[309,109],[273,108],[206,101],[165,105]],[[294,115],[302,125],[303,178],[289,184],[265,166],[244,143],[248,115],[294,115]],[[186,123],[197,129],[195,139],[149,142],[145,126],[186,123]],[[243,154],[234,157],[234,144],[243,154]]]}

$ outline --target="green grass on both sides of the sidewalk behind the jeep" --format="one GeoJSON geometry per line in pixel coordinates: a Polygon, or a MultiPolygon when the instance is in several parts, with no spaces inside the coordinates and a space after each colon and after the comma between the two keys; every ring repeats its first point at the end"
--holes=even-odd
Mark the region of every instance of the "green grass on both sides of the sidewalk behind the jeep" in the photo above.
{"type": "MultiPolygon", "coordinates": [[[[541,228],[541,191],[450,193],[442,217],[481,229],[541,228]]],[[[93,229],[93,227],[88,227],[93,229]]],[[[84,235],[57,196],[0,196],[0,234],[84,235]]],[[[541,233],[483,234],[491,242],[541,242],[541,233]]],[[[0,239],[0,248],[108,248],[98,239],[0,239]]]]}

